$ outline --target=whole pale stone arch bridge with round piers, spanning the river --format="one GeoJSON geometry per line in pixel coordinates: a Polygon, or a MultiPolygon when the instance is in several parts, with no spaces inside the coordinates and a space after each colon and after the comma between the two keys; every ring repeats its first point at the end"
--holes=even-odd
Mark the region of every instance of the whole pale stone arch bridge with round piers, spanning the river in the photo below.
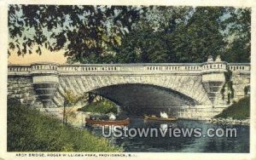
{"type": "Polygon", "coordinates": [[[230,90],[224,87],[227,71],[232,71],[232,100],[240,100],[250,84],[250,65],[245,63],[209,60],[189,64],[9,64],[8,97],[42,107],[63,106],[65,89],[77,95],[101,94],[121,105],[125,100],[137,100],[137,105],[145,107],[147,101],[158,105],[158,99],[164,97],[166,103],[162,106],[174,104],[183,108],[180,117],[212,117],[228,105],[230,90]],[[136,97],[131,96],[134,94],[136,97]]]}

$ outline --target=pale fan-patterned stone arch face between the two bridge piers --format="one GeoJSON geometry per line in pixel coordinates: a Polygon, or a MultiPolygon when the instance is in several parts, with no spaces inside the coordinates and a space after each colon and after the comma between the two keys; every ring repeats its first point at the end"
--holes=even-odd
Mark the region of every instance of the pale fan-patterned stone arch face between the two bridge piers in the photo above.
{"type": "Polygon", "coordinates": [[[109,86],[141,84],[157,86],[162,89],[169,89],[175,93],[195,100],[196,105],[210,106],[206,90],[201,84],[201,77],[196,75],[86,75],[86,76],[63,76],[59,77],[59,87],[53,101],[55,105],[63,104],[65,89],[72,90],[74,94],[81,95],[97,89],[108,88],[109,86]]]}

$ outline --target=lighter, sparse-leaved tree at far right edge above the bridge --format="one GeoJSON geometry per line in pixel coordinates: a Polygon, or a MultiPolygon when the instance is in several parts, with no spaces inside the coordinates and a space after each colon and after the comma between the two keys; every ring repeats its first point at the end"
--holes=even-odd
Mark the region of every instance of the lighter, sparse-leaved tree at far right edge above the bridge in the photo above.
{"type": "Polygon", "coordinates": [[[251,9],[228,8],[230,16],[224,20],[226,54],[229,62],[250,62],[251,57],[251,9]]]}

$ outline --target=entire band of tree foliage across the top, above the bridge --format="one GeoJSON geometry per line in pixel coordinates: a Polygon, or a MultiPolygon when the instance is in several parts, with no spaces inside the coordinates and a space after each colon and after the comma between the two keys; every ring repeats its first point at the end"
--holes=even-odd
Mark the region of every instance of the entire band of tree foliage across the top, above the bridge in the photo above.
{"type": "Polygon", "coordinates": [[[9,52],[65,49],[68,62],[250,61],[251,9],[9,5],[9,52]]]}

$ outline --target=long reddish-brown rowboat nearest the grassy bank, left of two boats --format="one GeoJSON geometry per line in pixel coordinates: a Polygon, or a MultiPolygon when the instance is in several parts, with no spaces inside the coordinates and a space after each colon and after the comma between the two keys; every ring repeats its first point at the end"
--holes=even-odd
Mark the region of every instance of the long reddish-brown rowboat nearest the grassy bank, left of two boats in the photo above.
{"type": "Polygon", "coordinates": [[[122,120],[92,120],[90,118],[85,118],[85,123],[90,124],[90,125],[101,125],[101,126],[106,126],[106,125],[113,125],[113,126],[125,126],[130,123],[130,118],[127,117],[126,119],[122,120]]]}

